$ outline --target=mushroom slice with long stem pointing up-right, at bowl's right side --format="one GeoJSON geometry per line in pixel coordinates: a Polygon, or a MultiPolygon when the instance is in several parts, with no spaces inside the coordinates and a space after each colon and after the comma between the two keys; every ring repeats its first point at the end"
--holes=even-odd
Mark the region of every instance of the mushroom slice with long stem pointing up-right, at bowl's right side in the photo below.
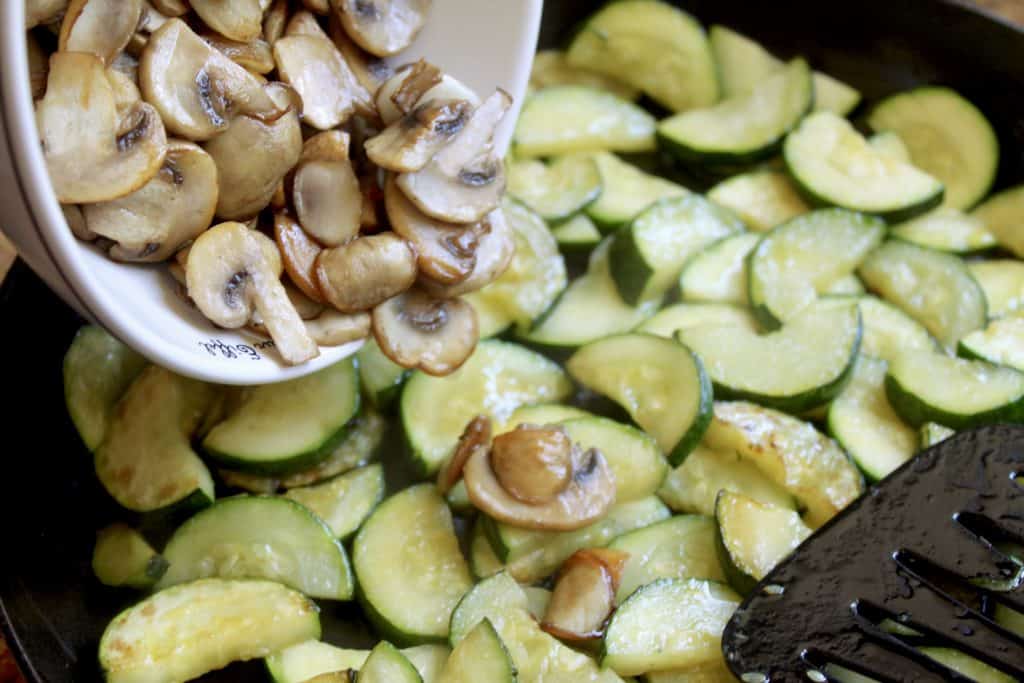
{"type": "Polygon", "coordinates": [[[398,176],[398,186],[423,213],[473,223],[498,207],[505,191],[505,165],[495,156],[490,139],[511,104],[509,94],[498,90],[433,161],[398,176]]]}

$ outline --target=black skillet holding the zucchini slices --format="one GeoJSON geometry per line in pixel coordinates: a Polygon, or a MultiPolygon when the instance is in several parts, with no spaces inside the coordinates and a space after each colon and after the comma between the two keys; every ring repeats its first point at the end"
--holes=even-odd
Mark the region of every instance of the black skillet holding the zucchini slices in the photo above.
{"type": "MultiPolygon", "coordinates": [[[[19,1],[19,0],[12,0],[19,1]]],[[[515,0],[488,0],[512,2],[515,0]]],[[[541,45],[559,45],[599,0],[549,0],[541,45]]],[[[999,133],[998,183],[1024,180],[1024,33],[954,0],[684,0],[781,56],[859,88],[870,103],[922,84],[949,85],[999,133]]],[[[2,222],[2,217],[0,217],[2,222]]],[[[101,587],[89,558],[118,510],[99,488],[63,407],[60,358],[80,321],[22,264],[0,289],[0,623],[29,681],[100,680],[96,644],[131,594],[101,587]]],[[[327,605],[325,636],[367,646],[358,610],[327,605]]],[[[258,664],[205,677],[261,680],[258,664]]]]}

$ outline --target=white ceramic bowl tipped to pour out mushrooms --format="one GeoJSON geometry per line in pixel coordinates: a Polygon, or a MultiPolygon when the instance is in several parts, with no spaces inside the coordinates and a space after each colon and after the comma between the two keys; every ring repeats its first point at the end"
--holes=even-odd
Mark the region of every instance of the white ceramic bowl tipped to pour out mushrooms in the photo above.
{"type": "MultiPolygon", "coordinates": [[[[504,151],[522,102],[537,45],[542,0],[434,0],[427,27],[404,62],[427,57],[482,95],[515,97],[497,142],[504,151]]],[[[0,229],[19,256],[69,305],[154,362],[222,384],[266,384],[336,362],[359,343],[322,348],[298,367],[244,332],[221,330],[187,306],[162,265],[115,263],[79,242],[50,186],[29,86],[24,3],[0,2],[0,229]]],[[[45,315],[46,311],[39,311],[45,315]]],[[[31,331],[23,331],[31,334],[31,331]]]]}

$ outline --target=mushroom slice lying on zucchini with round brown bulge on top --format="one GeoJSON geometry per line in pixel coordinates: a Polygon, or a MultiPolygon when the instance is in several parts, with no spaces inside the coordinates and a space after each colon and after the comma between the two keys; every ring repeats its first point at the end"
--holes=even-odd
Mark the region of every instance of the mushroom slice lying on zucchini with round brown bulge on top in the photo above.
{"type": "Polygon", "coordinates": [[[615,480],[600,451],[584,452],[557,426],[520,425],[478,447],[463,479],[473,505],[513,526],[570,531],[615,501],[615,480]]]}

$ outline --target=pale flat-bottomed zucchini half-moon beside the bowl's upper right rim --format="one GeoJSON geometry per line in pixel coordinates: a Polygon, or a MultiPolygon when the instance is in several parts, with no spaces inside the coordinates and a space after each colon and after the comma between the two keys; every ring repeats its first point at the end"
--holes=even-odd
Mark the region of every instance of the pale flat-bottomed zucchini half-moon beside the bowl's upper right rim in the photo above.
{"type": "Polygon", "coordinates": [[[526,97],[513,137],[519,159],[579,152],[649,152],[654,117],[610,92],[559,85],[526,97]]]}

